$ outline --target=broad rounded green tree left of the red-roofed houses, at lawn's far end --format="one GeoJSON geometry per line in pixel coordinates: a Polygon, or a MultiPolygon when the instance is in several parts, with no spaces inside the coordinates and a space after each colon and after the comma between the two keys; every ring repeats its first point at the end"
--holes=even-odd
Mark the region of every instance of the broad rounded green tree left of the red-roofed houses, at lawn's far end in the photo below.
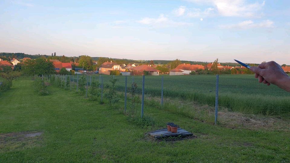
{"type": "Polygon", "coordinates": [[[22,66],[22,70],[27,75],[54,74],[55,69],[52,62],[45,58],[29,59],[22,66]]]}

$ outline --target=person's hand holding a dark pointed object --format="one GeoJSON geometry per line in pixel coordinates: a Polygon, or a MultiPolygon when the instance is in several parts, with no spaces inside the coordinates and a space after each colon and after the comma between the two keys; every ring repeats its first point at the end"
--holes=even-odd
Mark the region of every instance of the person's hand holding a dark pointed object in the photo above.
{"type": "Polygon", "coordinates": [[[271,83],[282,89],[285,89],[290,80],[282,67],[274,61],[261,63],[258,67],[252,66],[250,70],[255,72],[255,78],[258,78],[260,83],[267,85],[271,83]]]}

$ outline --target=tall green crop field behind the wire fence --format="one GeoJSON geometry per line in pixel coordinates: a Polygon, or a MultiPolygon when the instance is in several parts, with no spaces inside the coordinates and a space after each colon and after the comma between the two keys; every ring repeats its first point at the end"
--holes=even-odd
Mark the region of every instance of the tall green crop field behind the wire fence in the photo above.
{"type": "MultiPolygon", "coordinates": [[[[109,75],[101,76],[104,77],[104,82],[110,78],[109,75]]],[[[161,96],[161,77],[161,75],[145,76],[145,94],[161,96]]],[[[215,75],[164,75],[163,77],[165,98],[182,98],[214,106],[215,75]]],[[[98,75],[92,75],[92,78],[99,80],[98,75]]],[[[115,78],[119,79],[119,89],[124,91],[125,77],[115,76],[115,78]]],[[[134,80],[141,91],[142,76],[128,76],[127,80],[128,87],[134,80]]],[[[267,86],[259,83],[254,75],[220,75],[219,106],[244,113],[284,114],[290,112],[290,93],[276,85],[267,86]]]]}

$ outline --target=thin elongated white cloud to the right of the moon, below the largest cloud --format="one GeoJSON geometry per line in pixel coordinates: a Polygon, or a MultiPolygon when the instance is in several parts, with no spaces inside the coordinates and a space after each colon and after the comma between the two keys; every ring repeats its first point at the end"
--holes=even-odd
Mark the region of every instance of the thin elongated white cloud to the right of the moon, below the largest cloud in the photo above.
{"type": "Polygon", "coordinates": [[[250,29],[250,28],[271,28],[273,27],[274,22],[270,20],[266,21],[261,21],[259,23],[255,23],[251,20],[247,21],[242,21],[238,24],[227,24],[227,25],[221,25],[221,28],[224,29],[232,29],[232,28],[237,28],[237,29],[250,29]]]}

